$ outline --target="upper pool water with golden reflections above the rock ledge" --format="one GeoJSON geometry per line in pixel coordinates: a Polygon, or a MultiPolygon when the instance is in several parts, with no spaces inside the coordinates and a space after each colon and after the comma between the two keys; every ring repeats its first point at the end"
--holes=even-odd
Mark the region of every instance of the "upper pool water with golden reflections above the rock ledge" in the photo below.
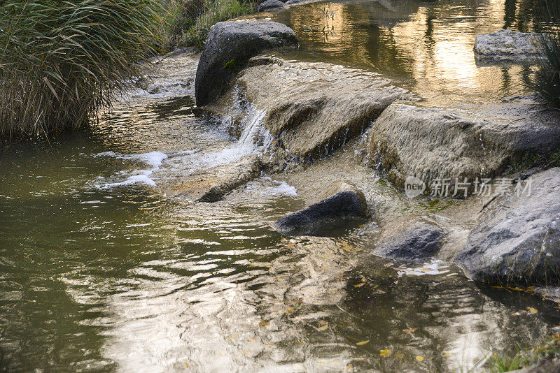
{"type": "MultiPolygon", "coordinates": [[[[430,103],[478,103],[526,94],[531,66],[477,64],[477,34],[533,31],[532,1],[321,2],[265,13],[300,38],[287,58],[378,71],[430,103]]],[[[263,15],[252,16],[262,18],[263,15]]]]}

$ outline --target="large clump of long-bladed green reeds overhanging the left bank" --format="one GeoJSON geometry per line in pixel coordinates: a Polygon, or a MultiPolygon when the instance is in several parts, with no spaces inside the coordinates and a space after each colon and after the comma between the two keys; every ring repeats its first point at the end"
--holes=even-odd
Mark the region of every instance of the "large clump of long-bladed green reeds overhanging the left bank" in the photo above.
{"type": "Polygon", "coordinates": [[[158,45],[159,0],[0,1],[0,138],[77,129],[158,45]]]}

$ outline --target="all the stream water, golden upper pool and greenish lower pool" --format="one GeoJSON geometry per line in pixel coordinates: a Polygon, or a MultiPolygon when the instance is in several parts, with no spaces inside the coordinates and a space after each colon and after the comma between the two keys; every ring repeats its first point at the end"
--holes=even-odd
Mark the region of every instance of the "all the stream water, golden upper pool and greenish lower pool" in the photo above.
{"type": "MultiPolygon", "coordinates": [[[[381,72],[433,101],[477,102],[523,90],[530,66],[477,67],[472,42],[531,28],[524,6],[337,1],[273,17],[300,36],[284,58],[381,72]]],[[[0,370],[464,372],[560,323],[554,303],[477,288],[447,263],[396,267],[367,255],[374,222],[336,237],[281,237],[270,222],[316,192],[289,177],[262,175],[218,203],[167,198],[158,186],[170,177],[272,141],[255,108],[231,108],[245,115],[241,140],[227,117],[194,108],[196,63],[162,62],[147,91],[133,89],[88,133],[3,149],[0,370]]],[[[367,189],[377,176],[353,163],[360,147],[304,179],[345,173],[367,189]]],[[[366,192],[398,196],[390,186],[366,192]]]]}

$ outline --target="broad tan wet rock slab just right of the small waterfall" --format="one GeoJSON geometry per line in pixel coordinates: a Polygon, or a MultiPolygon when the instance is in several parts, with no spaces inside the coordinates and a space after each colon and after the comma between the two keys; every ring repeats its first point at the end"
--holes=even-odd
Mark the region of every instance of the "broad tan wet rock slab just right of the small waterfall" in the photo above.
{"type": "MultiPolygon", "coordinates": [[[[265,110],[265,128],[291,161],[313,161],[363,133],[405,89],[376,73],[344,66],[262,59],[237,83],[255,108],[265,110]]],[[[250,62],[251,64],[251,62],[250,62]]]]}

